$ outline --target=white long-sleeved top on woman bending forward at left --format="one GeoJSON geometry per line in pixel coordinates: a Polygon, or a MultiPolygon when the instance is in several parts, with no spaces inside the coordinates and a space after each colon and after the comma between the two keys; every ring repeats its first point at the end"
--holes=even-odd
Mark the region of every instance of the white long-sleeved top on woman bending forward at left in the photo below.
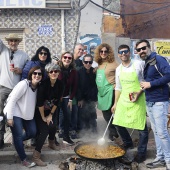
{"type": "Polygon", "coordinates": [[[36,106],[37,90],[35,92],[29,87],[27,79],[20,81],[10,93],[7,104],[4,108],[4,114],[7,119],[13,119],[13,116],[24,120],[32,120],[36,106]]]}

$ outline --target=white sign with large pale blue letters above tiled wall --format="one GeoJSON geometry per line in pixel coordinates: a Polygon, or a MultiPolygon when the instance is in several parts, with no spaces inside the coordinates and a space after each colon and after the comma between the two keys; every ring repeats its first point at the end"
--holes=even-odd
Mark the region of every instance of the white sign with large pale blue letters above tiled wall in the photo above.
{"type": "Polygon", "coordinates": [[[45,8],[46,0],[0,0],[0,8],[45,8]]]}

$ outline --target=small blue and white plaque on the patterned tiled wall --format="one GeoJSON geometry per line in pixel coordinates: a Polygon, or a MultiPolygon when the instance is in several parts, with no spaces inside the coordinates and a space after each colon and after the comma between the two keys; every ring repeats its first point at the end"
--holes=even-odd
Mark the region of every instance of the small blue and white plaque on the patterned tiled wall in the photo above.
{"type": "Polygon", "coordinates": [[[38,27],[39,36],[52,36],[54,34],[54,29],[52,25],[41,25],[38,27]]]}

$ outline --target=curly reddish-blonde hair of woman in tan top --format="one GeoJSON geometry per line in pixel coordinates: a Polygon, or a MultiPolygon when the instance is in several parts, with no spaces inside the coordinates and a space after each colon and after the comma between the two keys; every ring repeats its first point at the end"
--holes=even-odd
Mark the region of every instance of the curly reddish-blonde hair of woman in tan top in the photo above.
{"type": "Polygon", "coordinates": [[[112,47],[109,45],[109,44],[106,44],[106,43],[102,43],[100,44],[96,50],[95,50],[95,53],[94,53],[94,60],[99,64],[101,65],[103,60],[100,56],[100,51],[103,47],[106,47],[107,51],[108,51],[108,56],[106,58],[107,62],[109,63],[112,63],[115,61],[115,57],[114,57],[114,52],[113,52],[113,49],[112,47]]]}

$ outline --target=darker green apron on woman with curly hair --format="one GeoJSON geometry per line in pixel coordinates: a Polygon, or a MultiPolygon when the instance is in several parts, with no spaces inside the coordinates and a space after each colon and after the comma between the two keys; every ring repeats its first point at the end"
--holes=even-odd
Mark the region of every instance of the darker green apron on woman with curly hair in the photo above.
{"type": "Polygon", "coordinates": [[[113,85],[107,81],[105,75],[106,66],[104,69],[97,69],[96,74],[96,84],[98,88],[97,107],[99,110],[108,110],[112,105],[113,85]]]}

